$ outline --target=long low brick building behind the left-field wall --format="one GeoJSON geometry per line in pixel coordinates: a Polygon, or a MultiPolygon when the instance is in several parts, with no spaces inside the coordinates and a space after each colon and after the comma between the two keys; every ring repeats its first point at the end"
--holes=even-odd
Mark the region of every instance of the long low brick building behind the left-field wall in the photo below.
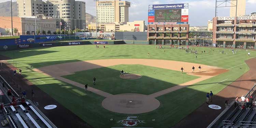
{"type": "MultiPolygon", "coordinates": [[[[12,31],[12,25],[10,24],[11,17],[3,16],[0,19],[0,32],[5,33],[6,29],[12,31]]],[[[14,33],[16,35],[26,35],[34,34],[35,32],[35,18],[31,17],[13,17],[13,28],[17,28],[18,32],[14,33]]],[[[47,31],[50,30],[51,33],[56,31],[56,20],[47,19],[47,17],[37,17],[36,18],[36,29],[42,31],[44,30],[47,34],[47,31]]]]}

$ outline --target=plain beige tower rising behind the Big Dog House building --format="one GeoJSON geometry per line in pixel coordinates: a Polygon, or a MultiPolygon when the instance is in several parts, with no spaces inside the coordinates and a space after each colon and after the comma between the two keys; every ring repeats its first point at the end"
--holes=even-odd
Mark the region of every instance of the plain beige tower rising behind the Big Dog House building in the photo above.
{"type": "Polygon", "coordinates": [[[230,17],[233,16],[244,16],[245,15],[245,0],[234,0],[230,1],[231,5],[233,7],[230,7],[230,17]],[[237,15],[236,15],[236,7],[234,5],[237,5],[237,15]]]}

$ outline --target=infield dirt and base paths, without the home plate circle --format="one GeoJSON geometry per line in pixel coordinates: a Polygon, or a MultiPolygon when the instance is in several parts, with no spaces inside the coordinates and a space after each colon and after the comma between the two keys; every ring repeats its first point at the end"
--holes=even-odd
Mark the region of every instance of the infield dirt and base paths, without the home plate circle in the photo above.
{"type": "MultiPolygon", "coordinates": [[[[158,67],[163,69],[169,69],[169,70],[175,70],[180,71],[181,67],[184,68],[184,72],[187,72],[189,75],[195,75],[200,76],[200,78],[183,83],[181,85],[177,85],[162,91],[159,91],[157,93],[149,95],[152,98],[170,93],[172,91],[175,91],[177,89],[186,87],[188,85],[195,84],[197,82],[209,79],[213,76],[216,76],[218,74],[224,73],[227,70],[220,69],[213,66],[207,66],[207,65],[200,65],[196,63],[189,63],[189,62],[180,62],[180,61],[171,61],[171,60],[155,60],[155,59],[104,59],[104,60],[89,60],[89,61],[80,61],[80,62],[71,62],[71,63],[62,63],[58,65],[52,65],[52,66],[46,66],[39,69],[35,69],[35,71],[39,71],[42,73],[45,73],[49,76],[55,77],[58,80],[61,80],[63,82],[67,82],[69,84],[75,85],[77,87],[84,88],[83,84],[65,79],[61,76],[63,75],[70,75],[74,74],[74,72],[78,71],[84,71],[84,70],[90,70],[90,69],[96,69],[96,68],[102,68],[102,67],[109,67],[109,66],[115,66],[115,65],[145,65],[145,66],[152,66],[152,67],[158,67]],[[201,66],[202,72],[201,73],[190,73],[192,70],[192,67],[201,66]],[[189,71],[189,72],[188,72],[189,71]]],[[[101,90],[98,90],[96,88],[88,87],[88,90],[104,96],[104,97],[110,97],[112,94],[103,92],[101,90]]]]}

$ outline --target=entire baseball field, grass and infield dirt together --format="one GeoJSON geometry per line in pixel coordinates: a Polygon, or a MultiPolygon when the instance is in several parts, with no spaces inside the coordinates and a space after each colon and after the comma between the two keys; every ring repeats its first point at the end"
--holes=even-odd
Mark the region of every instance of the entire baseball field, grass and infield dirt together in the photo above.
{"type": "Polygon", "coordinates": [[[247,72],[245,60],[256,56],[245,49],[235,49],[236,54],[224,48],[193,49],[197,55],[151,45],[44,47],[0,54],[95,128],[169,128],[204,104],[208,92],[217,94],[247,72]]]}

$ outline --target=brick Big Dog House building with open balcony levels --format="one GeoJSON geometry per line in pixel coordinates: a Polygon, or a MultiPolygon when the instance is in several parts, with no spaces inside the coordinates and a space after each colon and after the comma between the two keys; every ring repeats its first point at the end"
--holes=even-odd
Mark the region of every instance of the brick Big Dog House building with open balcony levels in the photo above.
{"type": "Polygon", "coordinates": [[[214,17],[213,44],[217,47],[255,48],[256,16],[214,17]]]}

